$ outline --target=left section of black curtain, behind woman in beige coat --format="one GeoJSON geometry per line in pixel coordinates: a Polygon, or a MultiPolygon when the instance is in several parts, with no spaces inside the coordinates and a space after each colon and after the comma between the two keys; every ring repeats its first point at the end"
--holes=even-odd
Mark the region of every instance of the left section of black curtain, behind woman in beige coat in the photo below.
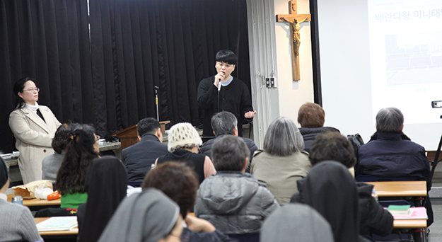
{"type": "Polygon", "coordinates": [[[86,0],[0,0],[0,150],[15,149],[13,83],[35,78],[60,122],[95,122],[86,0]]]}

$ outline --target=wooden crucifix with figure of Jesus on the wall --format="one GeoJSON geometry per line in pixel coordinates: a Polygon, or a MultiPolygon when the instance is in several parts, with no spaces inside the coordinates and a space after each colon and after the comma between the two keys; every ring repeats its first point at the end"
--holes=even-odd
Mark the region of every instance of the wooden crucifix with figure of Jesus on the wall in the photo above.
{"type": "Polygon", "coordinates": [[[290,23],[290,30],[292,35],[291,42],[291,63],[293,71],[293,81],[301,79],[299,75],[299,46],[301,45],[301,34],[299,33],[299,24],[311,21],[310,13],[297,14],[298,5],[296,1],[289,1],[290,14],[278,14],[277,22],[290,23]]]}

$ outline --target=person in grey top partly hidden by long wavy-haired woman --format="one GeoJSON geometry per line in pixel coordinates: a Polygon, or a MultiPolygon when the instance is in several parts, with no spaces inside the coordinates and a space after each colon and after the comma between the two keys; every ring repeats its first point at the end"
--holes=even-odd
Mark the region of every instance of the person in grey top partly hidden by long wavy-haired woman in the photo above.
{"type": "MultiPolygon", "coordinates": [[[[52,180],[53,185],[55,185],[58,170],[62,166],[70,132],[70,124],[63,124],[58,127],[54,139],[52,139],[52,148],[55,152],[43,158],[42,161],[42,180],[52,180]]],[[[54,190],[56,189],[54,188],[54,190]]]]}

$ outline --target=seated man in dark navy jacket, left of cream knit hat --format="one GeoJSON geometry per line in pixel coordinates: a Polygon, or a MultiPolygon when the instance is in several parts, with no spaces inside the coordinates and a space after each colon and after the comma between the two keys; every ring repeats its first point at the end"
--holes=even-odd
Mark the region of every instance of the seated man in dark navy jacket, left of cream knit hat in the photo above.
{"type": "Polygon", "coordinates": [[[139,142],[123,149],[122,161],[127,169],[129,181],[142,181],[152,164],[160,156],[168,154],[167,144],[163,144],[161,125],[156,119],[146,117],[136,127],[139,142]]]}

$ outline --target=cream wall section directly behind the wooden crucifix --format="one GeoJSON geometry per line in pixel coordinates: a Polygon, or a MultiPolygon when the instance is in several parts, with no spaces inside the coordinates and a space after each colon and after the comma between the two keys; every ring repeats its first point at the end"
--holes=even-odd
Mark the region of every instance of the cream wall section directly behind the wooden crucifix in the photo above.
{"type": "MultiPolygon", "coordinates": [[[[288,14],[287,0],[274,0],[275,16],[288,14]]],[[[298,0],[298,13],[310,13],[309,1],[298,0]]],[[[279,92],[279,115],[291,118],[298,125],[298,109],[303,103],[313,102],[313,69],[310,39],[310,22],[301,23],[301,47],[299,61],[301,80],[293,81],[291,65],[291,33],[288,23],[277,23],[275,33],[277,45],[277,84],[279,92]]],[[[299,126],[298,126],[299,127],[299,126]]]]}

